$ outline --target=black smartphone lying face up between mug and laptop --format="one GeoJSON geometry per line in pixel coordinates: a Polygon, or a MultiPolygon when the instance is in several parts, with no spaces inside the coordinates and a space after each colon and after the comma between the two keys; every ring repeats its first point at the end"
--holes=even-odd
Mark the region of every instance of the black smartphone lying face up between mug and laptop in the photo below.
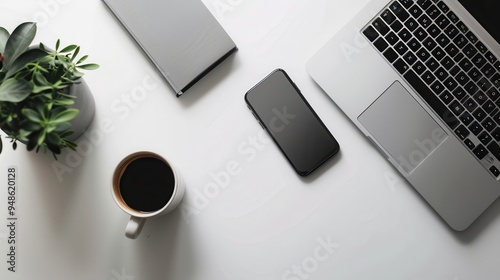
{"type": "Polygon", "coordinates": [[[309,175],[339,151],[337,140],[283,69],[251,88],[245,101],[299,175],[309,175]]]}

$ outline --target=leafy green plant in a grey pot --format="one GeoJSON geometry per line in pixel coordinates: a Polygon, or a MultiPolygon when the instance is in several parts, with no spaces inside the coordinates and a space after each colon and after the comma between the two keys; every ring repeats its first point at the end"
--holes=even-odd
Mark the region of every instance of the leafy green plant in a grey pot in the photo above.
{"type": "Polygon", "coordinates": [[[64,148],[75,149],[73,141],[92,120],[93,97],[80,70],[99,66],[85,63],[87,55],[77,58],[76,45],[61,48],[58,40],[55,50],[42,43],[31,46],[35,35],[32,22],[12,34],[0,27],[0,129],[14,150],[19,141],[29,151],[48,150],[56,156],[64,148]]]}

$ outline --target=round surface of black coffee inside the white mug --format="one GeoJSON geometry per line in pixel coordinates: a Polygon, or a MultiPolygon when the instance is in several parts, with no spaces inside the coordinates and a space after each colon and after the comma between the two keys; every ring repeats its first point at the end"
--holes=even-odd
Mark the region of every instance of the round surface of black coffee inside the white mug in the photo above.
{"type": "Polygon", "coordinates": [[[155,157],[132,160],[120,177],[120,195],[132,209],[154,212],[163,208],[174,193],[175,179],[170,166],[155,157]]]}

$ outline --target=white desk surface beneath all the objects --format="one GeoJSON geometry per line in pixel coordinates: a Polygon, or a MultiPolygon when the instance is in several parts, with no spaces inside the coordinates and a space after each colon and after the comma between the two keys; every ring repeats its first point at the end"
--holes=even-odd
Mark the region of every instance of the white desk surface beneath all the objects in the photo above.
{"type": "Polygon", "coordinates": [[[85,76],[97,112],[78,153],[60,156],[66,172],[22,146],[0,155],[0,279],[498,279],[500,203],[452,231],[306,73],[367,1],[203,0],[239,50],[177,99],[100,0],[1,0],[2,26],[36,20],[37,42],[79,44],[101,68],[85,76]],[[308,178],[261,134],[243,100],[278,67],[341,145],[308,178]],[[173,161],[187,193],[129,240],[110,184],[137,150],[173,161]],[[228,164],[238,169],[224,176],[228,164]],[[10,166],[19,179],[15,273],[6,263],[10,166]]]}

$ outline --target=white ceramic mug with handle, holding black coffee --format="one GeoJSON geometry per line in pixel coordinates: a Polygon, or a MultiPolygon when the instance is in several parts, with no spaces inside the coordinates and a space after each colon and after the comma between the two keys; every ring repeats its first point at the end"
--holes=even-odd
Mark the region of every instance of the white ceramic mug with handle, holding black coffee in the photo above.
{"type": "MultiPolygon", "coordinates": [[[[151,172],[155,172],[154,170],[148,170],[147,168],[143,168],[141,171],[142,171],[141,177],[143,176],[142,178],[148,178],[148,176],[152,175],[151,172]]],[[[165,186],[165,187],[172,188],[172,186],[165,186]]],[[[141,186],[138,186],[138,188],[139,189],[135,191],[140,191],[141,186]]],[[[112,182],[112,195],[116,204],[123,211],[125,211],[131,216],[127,224],[127,227],[125,228],[125,235],[128,238],[136,239],[141,233],[141,230],[147,218],[167,214],[179,205],[184,196],[185,189],[186,186],[184,184],[182,175],[164,157],[156,153],[147,151],[136,152],[125,157],[115,168],[113,174],[113,182],[112,182]],[[121,193],[122,191],[120,186],[123,183],[122,182],[123,177],[130,176],[130,174],[124,175],[126,174],[126,172],[130,172],[127,170],[127,168],[134,162],[137,164],[137,160],[144,158],[148,159],[152,158],[162,161],[166,165],[166,168],[170,169],[173,174],[172,194],[170,195],[169,198],[165,198],[167,202],[165,203],[165,205],[163,205],[163,207],[153,211],[141,211],[134,209],[133,207],[127,204],[126,200],[123,198],[121,193]]]]}

